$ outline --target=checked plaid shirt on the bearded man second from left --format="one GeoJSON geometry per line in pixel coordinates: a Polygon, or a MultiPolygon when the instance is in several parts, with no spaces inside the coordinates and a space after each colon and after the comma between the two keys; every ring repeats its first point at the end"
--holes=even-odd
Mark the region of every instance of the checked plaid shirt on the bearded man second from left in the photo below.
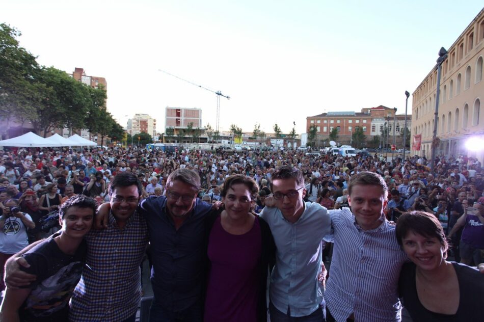
{"type": "Polygon", "coordinates": [[[137,211],[123,229],[110,212],[107,229],[89,232],[86,267],[72,294],[70,321],[114,322],[136,313],[148,237],[146,221],[137,211]]]}

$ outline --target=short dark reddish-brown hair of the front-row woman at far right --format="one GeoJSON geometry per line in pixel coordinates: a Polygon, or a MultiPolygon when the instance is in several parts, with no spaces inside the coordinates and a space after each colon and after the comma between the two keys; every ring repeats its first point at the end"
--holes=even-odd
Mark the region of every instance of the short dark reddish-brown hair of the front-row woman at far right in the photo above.
{"type": "Polygon", "coordinates": [[[447,258],[449,244],[444,229],[434,214],[425,211],[410,211],[402,214],[395,227],[395,235],[400,247],[403,245],[403,239],[411,231],[424,237],[439,239],[440,244],[444,247],[444,258],[447,258]]]}

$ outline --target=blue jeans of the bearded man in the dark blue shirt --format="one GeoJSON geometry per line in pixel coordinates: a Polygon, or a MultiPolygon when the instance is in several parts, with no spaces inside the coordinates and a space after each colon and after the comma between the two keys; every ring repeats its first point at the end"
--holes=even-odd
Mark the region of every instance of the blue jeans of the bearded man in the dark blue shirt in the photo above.
{"type": "Polygon", "coordinates": [[[168,310],[153,300],[150,307],[150,322],[202,322],[203,310],[200,302],[182,311],[168,310]]]}

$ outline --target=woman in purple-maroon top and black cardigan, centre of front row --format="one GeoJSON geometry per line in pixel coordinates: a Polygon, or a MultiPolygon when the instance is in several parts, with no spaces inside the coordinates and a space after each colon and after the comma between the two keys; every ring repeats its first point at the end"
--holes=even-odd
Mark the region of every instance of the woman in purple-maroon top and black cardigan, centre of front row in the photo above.
{"type": "Polygon", "coordinates": [[[271,231],[250,213],[257,183],[234,175],[223,185],[225,210],[208,237],[208,285],[204,321],[265,321],[267,270],[274,256],[271,231]]]}

